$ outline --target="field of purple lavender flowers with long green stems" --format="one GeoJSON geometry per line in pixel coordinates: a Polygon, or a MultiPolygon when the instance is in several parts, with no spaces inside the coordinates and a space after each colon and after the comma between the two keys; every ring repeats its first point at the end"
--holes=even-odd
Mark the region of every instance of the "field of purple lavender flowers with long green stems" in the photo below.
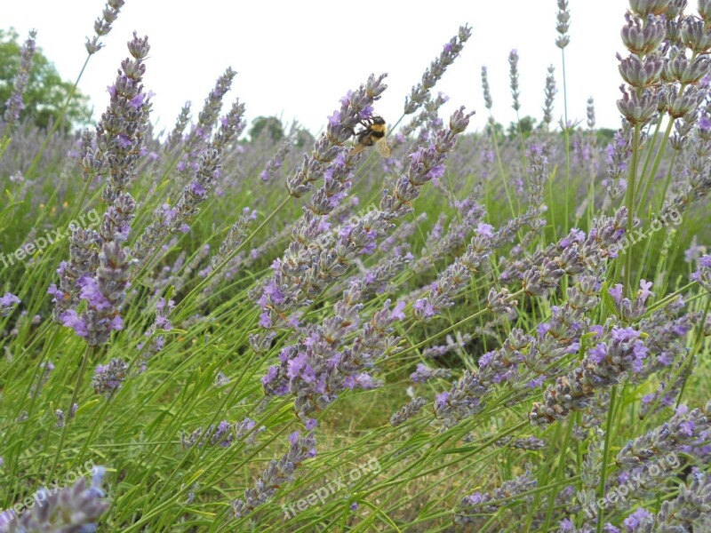
{"type": "Polygon", "coordinates": [[[711,0],[620,2],[617,131],[593,99],[568,116],[557,9],[539,87],[514,50],[507,91],[471,72],[484,107],[445,114],[476,53],[452,28],[384,116],[389,155],[366,146],[379,72],[321,131],[250,129],[224,66],[159,130],[136,33],[87,127],[76,84],[41,125],[22,36],[0,533],[711,532],[711,0]]]}

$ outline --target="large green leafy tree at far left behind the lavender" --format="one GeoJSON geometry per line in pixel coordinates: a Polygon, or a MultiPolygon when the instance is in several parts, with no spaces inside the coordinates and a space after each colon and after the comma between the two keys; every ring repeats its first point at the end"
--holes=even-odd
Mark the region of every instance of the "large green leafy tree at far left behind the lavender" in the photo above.
{"type": "MultiPolygon", "coordinates": [[[[5,102],[12,94],[14,77],[20,68],[19,38],[12,28],[9,31],[0,29],[0,115],[4,114],[5,102]]],[[[25,107],[20,113],[20,120],[29,120],[46,129],[50,122],[59,119],[61,108],[73,86],[73,83],[61,79],[52,62],[37,48],[32,60],[28,88],[22,95],[25,107]]],[[[76,91],[64,113],[61,128],[69,131],[73,127],[89,123],[92,112],[88,104],[89,98],[76,91]]]]}

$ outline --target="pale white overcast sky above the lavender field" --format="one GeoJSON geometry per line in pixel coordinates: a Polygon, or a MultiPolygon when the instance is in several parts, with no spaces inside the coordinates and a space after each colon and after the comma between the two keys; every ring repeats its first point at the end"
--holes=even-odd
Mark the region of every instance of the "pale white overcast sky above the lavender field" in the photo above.
{"type": "MultiPolygon", "coordinates": [[[[3,29],[22,40],[36,28],[37,44],[60,75],[74,81],[93,35],[103,0],[5,2],[3,29]]],[[[626,0],[570,0],[571,44],[565,49],[568,118],[585,122],[587,99],[595,99],[597,127],[617,129],[615,100],[622,83],[616,52],[626,0]]],[[[555,46],[555,0],[420,0],[355,2],[220,2],[219,0],[126,0],[105,48],[89,60],[79,82],[98,118],[108,104],[107,86],[128,56],[135,30],[151,51],[144,84],[156,93],[152,121],[172,129],[183,104],[196,120],[204,99],[226,68],[237,76],[224,110],[239,98],[251,123],[260,115],[293,120],[316,133],[339,107],[339,99],[371,73],[387,72],[388,89],[375,111],[394,123],[404,99],[443,45],[467,23],[473,34],[434,91],[450,97],[448,116],[459,106],[475,109],[471,129],[483,130],[481,68],[489,71],[492,114],[507,125],[516,118],[509,89],[508,54],[519,55],[520,116],[542,116],[547,67],[555,67],[558,94],[554,120],[563,116],[563,60],[555,46]]]]}

